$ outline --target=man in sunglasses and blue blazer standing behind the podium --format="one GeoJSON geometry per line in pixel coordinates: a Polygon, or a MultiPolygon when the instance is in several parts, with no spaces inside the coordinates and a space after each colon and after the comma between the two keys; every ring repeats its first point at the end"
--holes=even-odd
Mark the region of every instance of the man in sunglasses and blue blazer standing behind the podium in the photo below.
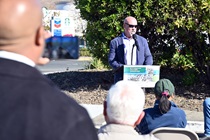
{"type": "Polygon", "coordinates": [[[114,70],[114,83],[123,80],[124,65],[152,65],[153,58],[147,40],[136,34],[137,20],[124,19],[124,32],[111,40],[108,61],[114,70]]]}

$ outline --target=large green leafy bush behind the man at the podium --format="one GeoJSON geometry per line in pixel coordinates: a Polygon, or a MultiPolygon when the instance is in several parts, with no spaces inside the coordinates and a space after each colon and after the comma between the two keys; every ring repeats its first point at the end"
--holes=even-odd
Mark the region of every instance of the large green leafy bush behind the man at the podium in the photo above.
{"type": "Polygon", "coordinates": [[[210,61],[209,0],[75,0],[88,21],[85,38],[93,57],[108,66],[109,42],[123,31],[130,15],[139,23],[154,56],[154,64],[198,69],[207,74],[210,61]],[[178,54],[183,46],[185,54],[178,54]],[[176,62],[178,61],[178,62],[176,62]]]}

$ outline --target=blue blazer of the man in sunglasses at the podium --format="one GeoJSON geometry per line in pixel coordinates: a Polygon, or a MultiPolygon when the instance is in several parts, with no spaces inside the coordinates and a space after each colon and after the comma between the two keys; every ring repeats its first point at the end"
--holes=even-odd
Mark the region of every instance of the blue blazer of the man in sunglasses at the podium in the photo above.
{"type": "MultiPolygon", "coordinates": [[[[136,49],[137,65],[152,65],[153,58],[147,40],[142,36],[137,35],[137,42],[139,46],[139,50],[136,49]]],[[[126,65],[124,58],[125,45],[123,44],[123,34],[111,40],[109,48],[108,61],[115,71],[114,79],[116,83],[123,79],[122,66],[126,65]]]]}

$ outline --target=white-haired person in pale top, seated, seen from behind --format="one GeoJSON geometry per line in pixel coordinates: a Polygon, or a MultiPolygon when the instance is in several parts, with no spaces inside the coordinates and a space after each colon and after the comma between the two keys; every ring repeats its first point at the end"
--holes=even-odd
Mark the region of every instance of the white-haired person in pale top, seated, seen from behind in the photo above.
{"type": "Polygon", "coordinates": [[[98,131],[100,140],[157,140],[153,135],[139,135],[134,129],[144,117],[145,95],[135,82],[119,81],[104,102],[106,125],[98,131]]]}

